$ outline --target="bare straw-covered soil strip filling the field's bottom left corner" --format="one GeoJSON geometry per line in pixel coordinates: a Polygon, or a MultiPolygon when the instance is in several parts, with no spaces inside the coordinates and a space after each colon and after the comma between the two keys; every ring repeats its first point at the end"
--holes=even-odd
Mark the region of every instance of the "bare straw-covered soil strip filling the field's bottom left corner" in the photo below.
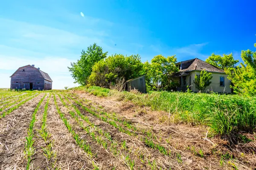
{"type": "Polygon", "coordinates": [[[2,169],[25,169],[24,143],[31,115],[42,94],[0,119],[0,166],[2,169]]]}

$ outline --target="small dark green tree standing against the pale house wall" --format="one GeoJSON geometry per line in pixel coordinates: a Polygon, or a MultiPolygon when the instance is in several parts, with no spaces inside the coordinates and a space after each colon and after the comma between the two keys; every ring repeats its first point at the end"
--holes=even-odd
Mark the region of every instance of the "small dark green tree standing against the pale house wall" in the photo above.
{"type": "Polygon", "coordinates": [[[211,80],[212,79],[212,73],[207,73],[207,71],[202,70],[200,75],[198,76],[197,74],[195,75],[195,87],[203,92],[204,89],[211,84],[211,80]]]}

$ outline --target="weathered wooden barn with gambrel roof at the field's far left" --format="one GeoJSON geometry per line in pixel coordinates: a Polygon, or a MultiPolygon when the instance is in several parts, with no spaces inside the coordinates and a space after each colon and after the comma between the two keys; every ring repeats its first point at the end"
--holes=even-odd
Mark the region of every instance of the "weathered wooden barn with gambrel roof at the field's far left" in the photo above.
{"type": "Polygon", "coordinates": [[[17,69],[11,76],[11,89],[51,90],[52,79],[47,73],[35,68],[35,65],[25,65],[17,69]]]}

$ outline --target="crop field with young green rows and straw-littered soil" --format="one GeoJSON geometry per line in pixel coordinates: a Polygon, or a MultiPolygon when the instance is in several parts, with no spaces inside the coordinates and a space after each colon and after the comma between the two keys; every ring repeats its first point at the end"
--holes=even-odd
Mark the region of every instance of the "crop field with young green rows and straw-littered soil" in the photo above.
{"type": "MultiPolygon", "coordinates": [[[[195,108],[194,112],[200,113],[200,119],[198,116],[195,119],[181,106],[170,106],[170,111],[165,111],[140,104],[143,99],[132,93],[116,92],[118,95],[113,96],[97,95],[99,93],[81,89],[0,91],[1,169],[256,168],[253,122],[247,121],[250,127],[242,130],[242,125],[233,124],[235,121],[226,121],[231,128],[237,127],[236,133],[223,129],[225,126],[218,130],[221,124],[212,125],[212,120],[202,123],[207,119],[205,115],[202,117],[207,113],[202,108],[195,108]]],[[[164,108],[163,103],[157,105],[164,108]]],[[[249,111],[246,107],[243,109],[251,113],[247,117],[251,119],[254,104],[248,102],[247,105],[250,105],[249,111]]]]}

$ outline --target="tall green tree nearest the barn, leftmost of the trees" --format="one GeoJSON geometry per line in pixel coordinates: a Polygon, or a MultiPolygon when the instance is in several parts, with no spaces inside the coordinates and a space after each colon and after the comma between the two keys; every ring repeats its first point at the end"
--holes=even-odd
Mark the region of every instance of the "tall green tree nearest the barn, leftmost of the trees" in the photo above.
{"type": "Polygon", "coordinates": [[[107,54],[108,52],[103,52],[96,43],[87,47],[86,51],[82,50],[80,59],[71,62],[71,67],[68,67],[75,82],[86,85],[94,63],[107,57],[107,54]]]}

